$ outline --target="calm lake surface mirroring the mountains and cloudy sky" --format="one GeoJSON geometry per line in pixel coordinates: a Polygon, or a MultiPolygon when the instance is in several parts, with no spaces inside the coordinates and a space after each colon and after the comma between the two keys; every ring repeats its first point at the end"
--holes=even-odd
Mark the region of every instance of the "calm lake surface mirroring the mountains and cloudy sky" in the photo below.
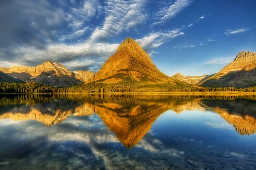
{"type": "Polygon", "coordinates": [[[0,170],[255,170],[256,97],[1,95],[0,170]]]}

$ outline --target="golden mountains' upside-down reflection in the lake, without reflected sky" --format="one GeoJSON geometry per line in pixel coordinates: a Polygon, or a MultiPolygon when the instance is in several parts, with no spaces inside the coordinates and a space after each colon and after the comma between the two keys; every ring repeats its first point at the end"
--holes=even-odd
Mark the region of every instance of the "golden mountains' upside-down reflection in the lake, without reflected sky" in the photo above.
{"type": "Polygon", "coordinates": [[[63,122],[70,115],[91,116],[96,113],[127,148],[137,144],[157,117],[167,110],[175,113],[185,110],[214,111],[232,124],[239,134],[256,132],[256,101],[239,97],[23,95],[13,98],[3,96],[0,101],[3,103],[0,105],[0,119],[37,120],[47,126],[63,122]],[[8,104],[3,103],[4,100],[8,104]],[[6,105],[15,107],[6,108],[6,105]]]}

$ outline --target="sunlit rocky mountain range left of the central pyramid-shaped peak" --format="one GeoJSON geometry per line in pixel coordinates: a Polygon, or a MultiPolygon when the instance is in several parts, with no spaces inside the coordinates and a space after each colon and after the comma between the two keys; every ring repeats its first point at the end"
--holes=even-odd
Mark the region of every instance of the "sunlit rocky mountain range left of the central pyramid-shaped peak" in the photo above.
{"type": "Polygon", "coordinates": [[[38,82],[56,87],[70,87],[86,82],[92,71],[69,71],[64,65],[57,62],[46,61],[36,67],[14,66],[0,68],[6,74],[23,80],[24,82],[38,82]]]}

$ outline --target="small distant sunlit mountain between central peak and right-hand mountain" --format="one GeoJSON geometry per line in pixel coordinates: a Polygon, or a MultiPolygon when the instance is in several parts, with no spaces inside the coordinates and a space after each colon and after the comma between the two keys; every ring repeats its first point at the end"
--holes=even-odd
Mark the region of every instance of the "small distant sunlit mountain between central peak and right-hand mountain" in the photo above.
{"type": "Polygon", "coordinates": [[[172,76],[173,79],[178,79],[180,81],[192,84],[192,85],[196,85],[201,81],[204,81],[204,79],[207,79],[208,77],[210,77],[211,75],[202,75],[202,76],[183,76],[180,73],[174,74],[172,76]]]}

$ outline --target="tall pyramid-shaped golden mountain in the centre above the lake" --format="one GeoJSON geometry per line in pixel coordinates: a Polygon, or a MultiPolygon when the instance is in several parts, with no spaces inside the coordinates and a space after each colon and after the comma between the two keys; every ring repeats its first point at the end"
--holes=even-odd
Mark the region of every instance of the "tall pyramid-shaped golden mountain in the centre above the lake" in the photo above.
{"type": "Polygon", "coordinates": [[[192,88],[185,82],[166,76],[152,63],[148,54],[132,38],[122,42],[102,68],[82,86],[106,91],[169,91],[192,88]]]}

